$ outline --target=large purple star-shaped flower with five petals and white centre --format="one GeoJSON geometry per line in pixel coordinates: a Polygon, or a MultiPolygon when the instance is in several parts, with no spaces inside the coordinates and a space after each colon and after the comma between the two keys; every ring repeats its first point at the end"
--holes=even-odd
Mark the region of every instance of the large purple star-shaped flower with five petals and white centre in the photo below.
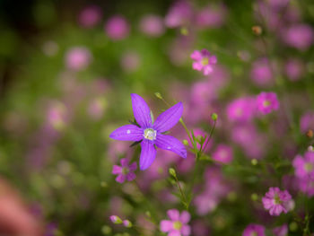
{"type": "Polygon", "coordinates": [[[113,131],[109,137],[123,141],[140,142],[142,152],[140,156],[140,169],[145,170],[151,166],[156,157],[155,146],[187,157],[184,145],[175,137],[163,135],[171,127],[174,127],[182,116],[182,102],[177,103],[156,118],[153,123],[151,110],[142,97],[131,93],[133,113],[137,125],[126,125],[113,131]]]}

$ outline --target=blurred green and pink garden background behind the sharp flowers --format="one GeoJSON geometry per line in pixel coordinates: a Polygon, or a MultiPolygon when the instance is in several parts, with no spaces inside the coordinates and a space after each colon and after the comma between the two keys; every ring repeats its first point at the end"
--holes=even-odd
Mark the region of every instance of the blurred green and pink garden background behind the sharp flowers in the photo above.
{"type": "MultiPolygon", "coordinates": [[[[313,23],[311,0],[1,0],[0,230],[163,235],[166,211],[183,209],[172,195],[171,166],[183,186],[196,175],[191,235],[240,235],[252,219],[270,229],[293,223],[292,215],[270,219],[251,195],[289,188],[304,213],[291,162],[313,144],[313,23]],[[207,76],[190,58],[203,48],[218,58],[207,76]],[[246,105],[232,117],[232,102],[262,91],[277,93],[275,114],[248,115],[246,105]],[[183,101],[197,135],[210,131],[216,112],[207,154],[227,150],[232,163],[205,160],[193,173],[193,154],[180,160],[158,151],[136,181],[115,181],[112,166],[122,157],[138,162],[140,152],[109,140],[133,119],[132,92],[155,116],[167,109],[155,92],[170,104],[183,101]],[[111,214],[144,229],[113,226],[111,214]]],[[[171,135],[188,138],[180,125],[171,135]]],[[[314,209],[312,198],[306,208],[314,209]]],[[[301,235],[293,225],[292,235],[301,235]]]]}

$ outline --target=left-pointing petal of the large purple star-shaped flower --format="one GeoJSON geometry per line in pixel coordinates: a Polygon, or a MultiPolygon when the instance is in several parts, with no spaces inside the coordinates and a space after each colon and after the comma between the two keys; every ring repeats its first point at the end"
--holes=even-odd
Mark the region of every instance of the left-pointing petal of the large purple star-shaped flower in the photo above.
{"type": "Polygon", "coordinates": [[[122,141],[140,141],[143,139],[143,129],[135,125],[126,125],[118,127],[109,137],[122,141]]]}

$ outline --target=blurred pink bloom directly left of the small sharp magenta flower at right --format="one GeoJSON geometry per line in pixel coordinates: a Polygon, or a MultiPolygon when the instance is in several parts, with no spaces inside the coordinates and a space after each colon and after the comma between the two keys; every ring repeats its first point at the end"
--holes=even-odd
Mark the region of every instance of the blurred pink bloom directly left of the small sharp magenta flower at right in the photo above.
{"type": "Polygon", "coordinates": [[[256,104],[251,97],[231,101],[227,106],[227,117],[230,121],[248,122],[255,116],[256,104]]]}

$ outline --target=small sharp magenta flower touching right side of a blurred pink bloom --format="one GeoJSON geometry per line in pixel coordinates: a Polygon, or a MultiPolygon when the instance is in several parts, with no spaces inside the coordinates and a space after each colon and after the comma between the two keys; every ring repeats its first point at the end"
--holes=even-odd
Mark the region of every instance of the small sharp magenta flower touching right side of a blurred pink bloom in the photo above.
{"type": "Polygon", "coordinates": [[[278,108],[279,101],[275,92],[261,92],[257,95],[257,109],[261,113],[268,114],[278,108]]]}

